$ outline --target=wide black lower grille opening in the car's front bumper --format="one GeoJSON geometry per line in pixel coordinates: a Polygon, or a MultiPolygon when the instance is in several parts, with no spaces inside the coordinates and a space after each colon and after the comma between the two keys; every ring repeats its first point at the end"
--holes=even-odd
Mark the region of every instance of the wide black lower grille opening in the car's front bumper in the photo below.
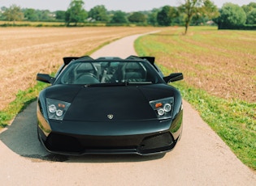
{"type": "Polygon", "coordinates": [[[69,136],[50,133],[46,148],[51,151],[83,154],[86,150],[134,150],[140,154],[171,150],[175,142],[171,133],[131,136],[69,136]]]}

